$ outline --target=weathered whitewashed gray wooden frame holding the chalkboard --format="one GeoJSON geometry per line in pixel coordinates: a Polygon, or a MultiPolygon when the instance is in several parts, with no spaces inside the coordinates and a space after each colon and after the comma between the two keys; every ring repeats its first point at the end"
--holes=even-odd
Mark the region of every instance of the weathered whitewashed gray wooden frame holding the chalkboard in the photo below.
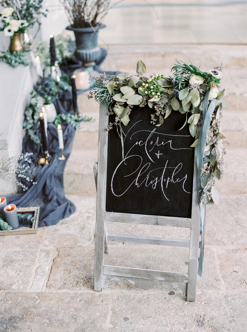
{"type": "Polygon", "coordinates": [[[194,158],[191,218],[107,212],[105,210],[108,144],[108,132],[105,128],[108,125],[107,112],[108,106],[101,103],[99,110],[98,163],[95,163],[94,165],[94,175],[97,188],[94,290],[101,291],[103,288],[108,287],[108,283],[110,281],[121,280],[128,280],[136,286],[143,286],[145,288],[156,287],[161,284],[168,284],[174,288],[182,289],[187,301],[194,301],[196,294],[200,235],[200,207],[197,195],[196,158],[194,158]],[[108,235],[106,230],[107,221],[187,227],[190,228],[190,239],[178,240],[133,235],[108,235]],[[104,265],[104,252],[108,253],[108,241],[110,240],[189,247],[188,273],[166,272],[104,265]]]}

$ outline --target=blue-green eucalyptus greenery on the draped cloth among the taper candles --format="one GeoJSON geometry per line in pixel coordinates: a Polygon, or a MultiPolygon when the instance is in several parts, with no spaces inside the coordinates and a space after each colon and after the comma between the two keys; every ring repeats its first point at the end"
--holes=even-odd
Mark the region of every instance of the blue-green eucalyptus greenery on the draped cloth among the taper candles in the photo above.
{"type": "MultiPolygon", "coordinates": [[[[44,104],[53,103],[59,98],[62,92],[66,91],[71,92],[71,86],[69,84],[68,75],[63,74],[58,85],[51,77],[46,78],[42,83],[37,83],[34,90],[31,92],[30,105],[24,112],[23,129],[36,144],[41,144],[40,138],[35,134],[35,131],[40,126],[39,119],[42,106],[44,104]]],[[[61,124],[62,120],[70,124],[74,129],[78,129],[81,121],[91,121],[92,118],[87,116],[75,116],[69,113],[59,114],[53,123],[57,126],[61,124]]]]}

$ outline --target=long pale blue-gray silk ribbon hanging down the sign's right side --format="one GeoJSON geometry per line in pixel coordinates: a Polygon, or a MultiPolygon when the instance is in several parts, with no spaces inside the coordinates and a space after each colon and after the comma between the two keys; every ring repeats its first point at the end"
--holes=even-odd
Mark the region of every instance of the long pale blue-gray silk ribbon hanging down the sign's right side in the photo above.
{"type": "Polygon", "coordinates": [[[206,147],[206,139],[207,134],[210,126],[210,122],[212,119],[212,114],[215,108],[215,99],[212,99],[209,106],[208,105],[208,90],[206,92],[203,105],[202,105],[202,124],[201,124],[201,131],[198,140],[198,146],[196,148],[196,164],[197,164],[197,192],[198,192],[198,200],[200,205],[200,234],[201,234],[201,241],[199,244],[200,248],[200,256],[199,256],[199,264],[198,264],[198,275],[202,275],[202,264],[203,264],[203,254],[204,254],[204,236],[205,236],[205,216],[206,216],[206,206],[201,203],[201,190],[203,189],[201,186],[201,169],[203,165],[203,156],[204,150],[206,147]]]}

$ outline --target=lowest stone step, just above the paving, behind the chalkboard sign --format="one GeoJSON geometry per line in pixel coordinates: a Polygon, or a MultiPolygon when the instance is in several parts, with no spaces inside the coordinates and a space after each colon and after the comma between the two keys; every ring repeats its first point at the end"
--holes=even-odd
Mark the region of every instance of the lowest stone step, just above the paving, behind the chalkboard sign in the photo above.
{"type": "MultiPolygon", "coordinates": [[[[225,173],[217,181],[222,194],[247,193],[247,150],[227,149],[225,173]]],[[[93,165],[97,161],[97,150],[73,149],[64,172],[66,194],[95,195],[93,165]]]]}

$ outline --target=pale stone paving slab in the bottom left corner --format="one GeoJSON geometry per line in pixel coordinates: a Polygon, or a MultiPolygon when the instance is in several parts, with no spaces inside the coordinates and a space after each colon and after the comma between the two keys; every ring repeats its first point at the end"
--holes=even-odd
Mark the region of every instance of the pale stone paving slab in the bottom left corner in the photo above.
{"type": "Polygon", "coordinates": [[[108,331],[107,294],[0,292],[1,332],[108,331]]]}

